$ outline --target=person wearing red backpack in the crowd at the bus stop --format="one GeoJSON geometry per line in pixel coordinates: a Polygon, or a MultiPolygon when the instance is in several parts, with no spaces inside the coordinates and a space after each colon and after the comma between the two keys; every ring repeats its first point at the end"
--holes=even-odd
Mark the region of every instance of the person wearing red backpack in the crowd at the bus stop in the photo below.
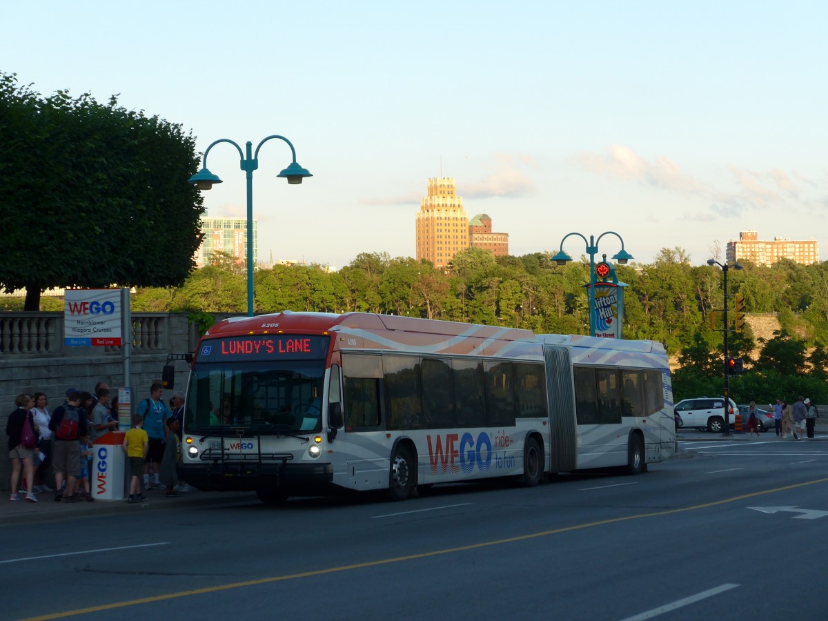
{"type": "Polygon", "coordinates": [[[76,388],[66,391],[66,402],[52,412],[49,428],[52,436],[52,465],[55,469],[57,493],[55,501],[75,502],[75,490],[80,474],[80,443],[78,438],[87,433],[86,415],[79,410],[80,392],[76,388]],[[64,477],[66,489],[61,491],[64,477]]]}

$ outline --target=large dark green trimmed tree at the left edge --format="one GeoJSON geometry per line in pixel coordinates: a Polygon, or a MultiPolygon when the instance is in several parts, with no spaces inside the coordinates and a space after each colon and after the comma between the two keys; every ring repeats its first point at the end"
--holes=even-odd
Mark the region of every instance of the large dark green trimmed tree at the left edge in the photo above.
{"type": "Polygon", "coordinates": [[[0,73],[0,287],[181,286],[203,209],[180,125],[89,94],[42,97],[0,73]],[[50,252],[31,252],[31,233],[50,252]]]}

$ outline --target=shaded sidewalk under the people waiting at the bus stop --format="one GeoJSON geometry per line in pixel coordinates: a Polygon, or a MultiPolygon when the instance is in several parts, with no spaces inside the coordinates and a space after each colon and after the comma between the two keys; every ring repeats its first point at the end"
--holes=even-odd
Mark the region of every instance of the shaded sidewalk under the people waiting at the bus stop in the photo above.
{"type": "Polygon", "coordinates": [[[182,493],[176,498],[167,498],[166,490],[152,489],[144,493],[147,500],[140,504],[129,504],[124,500],[96,500],[93,503],[79,501],[76,503],[55,503],[54,493],[37,494],[36,503],[28,503],[21,499],[12,502],[5,495],[0,498],[0,526],[6,524],[20,524],[25,522],[42,522],[60,520],[64,517],[99,517],[122,512],[136,512],[157,509],[171,509],[176,507],[195,507],[199,505],[221,505],[229,503],[243,503],[256,500],[253,492],[200,492],[182,493]]]}

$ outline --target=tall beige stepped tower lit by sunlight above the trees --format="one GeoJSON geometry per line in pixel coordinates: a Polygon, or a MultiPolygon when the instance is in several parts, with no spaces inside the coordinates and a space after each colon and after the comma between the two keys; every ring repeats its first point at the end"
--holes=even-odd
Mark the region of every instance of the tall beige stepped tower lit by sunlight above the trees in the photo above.
{"type": "Polygon", "coordinates": [[[416,259],[445,267],[455,253],[469,248],[469,214],[453,177],[428,180],[428,195],[416,214],[416,259]]]}

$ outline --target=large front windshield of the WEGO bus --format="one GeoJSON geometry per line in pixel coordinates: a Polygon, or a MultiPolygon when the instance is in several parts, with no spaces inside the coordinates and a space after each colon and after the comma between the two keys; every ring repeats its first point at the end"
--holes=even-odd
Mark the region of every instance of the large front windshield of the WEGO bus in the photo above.
{"type": "Polygon", "coordinates": [[[219,435],[255,427],[267,435],[320,431],[325,360],[195,363],[184,428],[219,435]]]}

